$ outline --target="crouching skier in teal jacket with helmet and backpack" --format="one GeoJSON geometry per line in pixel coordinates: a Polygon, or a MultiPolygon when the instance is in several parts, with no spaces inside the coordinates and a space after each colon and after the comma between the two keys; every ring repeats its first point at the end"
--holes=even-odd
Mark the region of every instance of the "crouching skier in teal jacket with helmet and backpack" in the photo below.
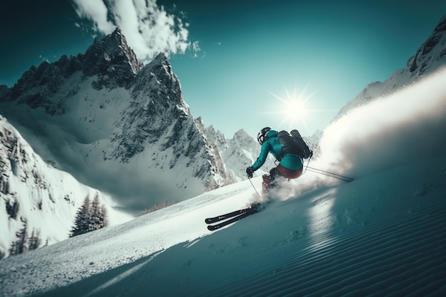
{"type": "Polygon", "coordinates": [[[264,127],[257,135],[261,151],[254,165],[247,167],[248,177],[251,178],[254,171],[264,165],[269,152],[279,161],[277,167],[271,169],[269,174],[263,175],[262,189],[264,193],[268,189],[277,187],[280,184],[278,179],[300,177],[304,170],[302,159],[313,155],[297,130],[291,131],[291,135],[286,131],[271,130],[270,127],[264,127]]]}

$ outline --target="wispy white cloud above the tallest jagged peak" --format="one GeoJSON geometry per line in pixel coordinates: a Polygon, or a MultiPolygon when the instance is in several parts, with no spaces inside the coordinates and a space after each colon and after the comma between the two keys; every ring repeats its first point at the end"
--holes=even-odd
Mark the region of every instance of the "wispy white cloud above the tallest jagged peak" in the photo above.
{"type": "Polygon", "coordinates": [[[73,0],[73,4],[78,16],[93,23],[96,33],[109,34],[119,26],[143,63],[160,52],[185,53],[191,46],[188,24],[155,0],[73,0]]]}

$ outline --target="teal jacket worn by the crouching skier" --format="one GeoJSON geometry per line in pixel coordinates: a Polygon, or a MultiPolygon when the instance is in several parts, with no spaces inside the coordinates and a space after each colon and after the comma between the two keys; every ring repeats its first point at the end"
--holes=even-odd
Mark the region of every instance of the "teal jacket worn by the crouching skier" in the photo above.
{"type": "MultiPolygon", "coordinates": [[[[281,145],[281,143],[279,142],[279,138],[276,137],[277,133],[278,132],[275,130],[269,130],[266,133],[266,137],[268,139],[266,139],[261,145],[260,155],[257,158],[256,162],[254,162],[254,165],[251,166],[253,171],[258,170],[261,165],[264,165],[269,152],[271,152],[271,155],[273,155],[276,159],[277,157],[279,157],[283,145],[281,145]]],[[[301,157],[294,154],[284,155],[284,157],[280,161],[280,165],[289,170],[299,170],[304,166],[301,157]]]]}

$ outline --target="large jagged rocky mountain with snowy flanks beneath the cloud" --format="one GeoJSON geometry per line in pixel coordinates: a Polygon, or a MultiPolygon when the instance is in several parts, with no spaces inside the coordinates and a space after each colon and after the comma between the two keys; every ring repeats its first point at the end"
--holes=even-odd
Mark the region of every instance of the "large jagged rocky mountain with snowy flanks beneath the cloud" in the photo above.
{"type": "Polygon", "coordinates": [[[160,53],[142,66],[117,28],[85,54],[1,88],[4,115],[43,160],[142,210],[228,183],[219,153],[160,53]]]}

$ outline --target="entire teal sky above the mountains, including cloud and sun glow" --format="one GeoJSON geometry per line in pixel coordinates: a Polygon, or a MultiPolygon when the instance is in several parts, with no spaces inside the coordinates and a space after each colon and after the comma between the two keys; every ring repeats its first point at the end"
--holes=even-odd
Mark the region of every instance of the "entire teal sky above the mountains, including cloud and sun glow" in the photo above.
{"type": "Polygon", "coordinates": [[[0,84],[11,87],[43,60],[84,53],[92,36],[119,25],[141,61],[168,53],[192,115],[228,138],[264,126],[322,130],[368,83],[404,68],[446,14],[439,0],[150,0],[145,9],[133,1],[137,18],[130,1],[11,2],[0,12],[9,28],[0,84]],[[175,28],[153,26],[169,21],[175,28]],[[286,113],[287,98],[304,101],[296,109],[306,113],[286,113]]]}

